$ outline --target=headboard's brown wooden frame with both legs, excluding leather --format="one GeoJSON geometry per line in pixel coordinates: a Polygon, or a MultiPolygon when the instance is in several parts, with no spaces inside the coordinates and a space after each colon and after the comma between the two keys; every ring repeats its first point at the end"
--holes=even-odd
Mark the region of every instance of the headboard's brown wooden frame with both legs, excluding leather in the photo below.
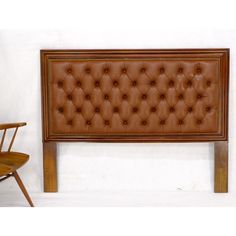
{"type": "MultiPolygon", "coordinates": [[[[180,59],[181,60],[181,59],[180,59]]],[[[44,149],[44,191],[57,192],[56,143],[57,142],[215,142],[215,192],[227,192],[228,165],[228,81],[229,49],[171,49],[171,50],[41,50],[42,118],[44,149]],[[218,60],[221,81],[220,124],[217,133],[188,135],[81,135],[54,134],[49,126],[48,65],[51,60],[76,58],[207,58],[218,60]]]]}

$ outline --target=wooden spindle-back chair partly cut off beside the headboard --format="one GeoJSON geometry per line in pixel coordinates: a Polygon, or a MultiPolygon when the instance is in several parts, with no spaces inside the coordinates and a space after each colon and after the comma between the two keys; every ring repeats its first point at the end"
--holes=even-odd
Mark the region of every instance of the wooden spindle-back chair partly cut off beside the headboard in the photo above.
{"type": "Polygon", "coordinates": [[[31,201],[30,196],[17,173],[17,170],[29,160],[29,155],[11,151],[18,128],[25,125],[26,123],[0,124],[0,130],[4,130],[0,143],[0,182],[9,177],[14,177],[28,203],[33,207],[33,202],[31,201]],[[2,147],[8,129],[15,129],[15,132],[12,136],[8,150],[3,152],[2,147]]]}

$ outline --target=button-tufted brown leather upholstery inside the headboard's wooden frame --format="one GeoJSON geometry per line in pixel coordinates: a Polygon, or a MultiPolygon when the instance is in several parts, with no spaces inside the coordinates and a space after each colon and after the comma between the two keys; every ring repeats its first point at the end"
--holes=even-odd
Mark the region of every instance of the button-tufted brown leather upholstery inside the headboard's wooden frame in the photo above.
{"type": "MultiPolygon", "coordinates": [[[[162,135],[184,128],[181,132],[188,135],[217,129],[218,123],[210,121],[217,119],[211,116],[218,110],[220,99],[216,63],[208,68],[212,62],[205,60],[196,63],[174,59],[170,64],[168,59],[150,60],[151,64],[132,60],[125,60],[123,65],[123,59],[114,64],[105,59],[102,63],[62,63],[60,73],[52,67],[53,82],[49,86],[54,100],[50,109],[53,116],[64,122],[64,131],[74,128],[86,133],[83,125],[89,134],[150,131],[162,135]],[[215,105],[210,101],[215,101],[215,105]],[[113,117],[120,125],[113,122],[113,117]]],[[[54,126],[58,127],[56,123],[54,126]]],[[[61,132],[60,127],[57,130],[61,132]]],[[[64,132],[63,127],[61,130],[64,132]]]]}

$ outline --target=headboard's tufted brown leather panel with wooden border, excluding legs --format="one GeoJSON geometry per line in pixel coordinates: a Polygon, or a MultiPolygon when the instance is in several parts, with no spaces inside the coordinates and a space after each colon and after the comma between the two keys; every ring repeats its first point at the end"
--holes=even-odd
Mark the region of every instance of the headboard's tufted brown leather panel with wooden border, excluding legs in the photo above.
{"type": "Polygon", "coordinates": [[[42,51],[45,139],[225,139],[225,53],[42,51]]]}

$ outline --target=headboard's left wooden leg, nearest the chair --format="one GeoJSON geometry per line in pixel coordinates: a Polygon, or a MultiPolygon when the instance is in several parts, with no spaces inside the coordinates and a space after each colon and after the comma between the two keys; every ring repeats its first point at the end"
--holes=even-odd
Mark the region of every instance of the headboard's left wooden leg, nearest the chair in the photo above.
{"type": "Polygon", "coordinates": [[[43,142],[44,192],[57,192],[57,146],[43,142]]]}

